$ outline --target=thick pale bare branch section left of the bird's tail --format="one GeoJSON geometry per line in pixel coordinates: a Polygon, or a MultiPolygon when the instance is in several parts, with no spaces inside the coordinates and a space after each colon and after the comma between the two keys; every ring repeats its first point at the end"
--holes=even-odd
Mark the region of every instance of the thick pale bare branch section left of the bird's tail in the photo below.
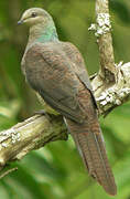
{"type": "Polygon", "coordinates": [[[50,142],[66,140],[67,134],[62,116],[52,117],[35,115],[0,132],[0,169],[8,161],[20,160],[31,150],[41,148],[50,142]]]}

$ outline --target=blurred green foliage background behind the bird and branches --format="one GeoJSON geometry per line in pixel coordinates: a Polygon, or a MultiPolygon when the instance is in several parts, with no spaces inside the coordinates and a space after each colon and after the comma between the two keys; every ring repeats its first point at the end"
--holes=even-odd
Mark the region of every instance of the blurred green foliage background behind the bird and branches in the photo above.
{"type": "MultiPolygon", "coordinates": [[[[40,109],[20,70],[28,30],[18,27],[22,12],[42,7],[54,18],[59,39],[80,50],[89,74],[98,71],[94,0],[0,0],[0,130],[40,109]]],[[[130,61],[130,1],[111,0],[110,13],[116,63],[130,61]]],[[[116,199],[130,199],[130,103],[100,118],[107,151],[118,186],[116,199]]],[[[85,172],[72,138],[32,151],[18,171],[0,180],[1,199],[109,199],[85,172]]]]}

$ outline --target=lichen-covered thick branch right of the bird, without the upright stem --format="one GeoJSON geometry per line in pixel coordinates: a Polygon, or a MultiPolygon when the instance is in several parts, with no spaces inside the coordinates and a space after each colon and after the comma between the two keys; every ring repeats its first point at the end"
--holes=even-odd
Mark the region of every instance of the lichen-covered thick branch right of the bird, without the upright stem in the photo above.
{"type": "Polygon", "coordinates": [[[117,65],[117,82],[106,86],[99,77],[91,81],[95,97],[101,115],[107,115],[115,107],[130,100],[130,62],[117,65]]]}

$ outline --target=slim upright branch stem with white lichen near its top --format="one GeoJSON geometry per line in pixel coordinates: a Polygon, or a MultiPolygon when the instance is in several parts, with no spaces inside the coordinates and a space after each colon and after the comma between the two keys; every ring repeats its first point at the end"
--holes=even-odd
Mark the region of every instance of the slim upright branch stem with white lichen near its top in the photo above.
{"type": "Polygon", "coordinates": [[[117,69],[112,49],[108,0],[96,0],[97,43],[100,57],[99,75],[106,83],[116,83],[117,69]]]}

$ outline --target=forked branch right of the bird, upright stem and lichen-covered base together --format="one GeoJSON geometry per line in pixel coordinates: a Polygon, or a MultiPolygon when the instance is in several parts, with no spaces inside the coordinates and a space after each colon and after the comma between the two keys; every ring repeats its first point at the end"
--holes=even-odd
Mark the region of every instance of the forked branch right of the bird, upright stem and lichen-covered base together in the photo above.
{"type": "Polygon", "coordinates": [[[115,64],[108,0],[96,0],[96,24],[89,30],[96,31],[100,57],[100,70],[91,84],[100,114],[106,115],[130,95],[130,63],[115,64]]]}

